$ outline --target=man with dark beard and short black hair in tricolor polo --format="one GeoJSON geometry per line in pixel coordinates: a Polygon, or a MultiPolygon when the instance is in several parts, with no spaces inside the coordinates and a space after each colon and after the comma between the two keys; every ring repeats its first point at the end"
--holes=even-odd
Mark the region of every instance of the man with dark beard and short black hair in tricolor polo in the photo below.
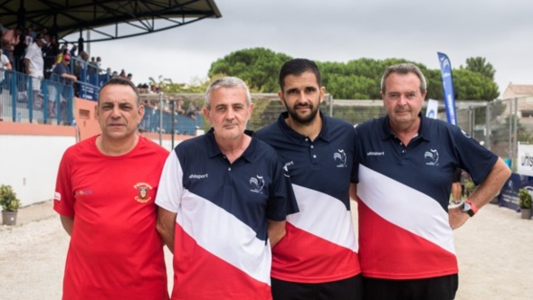
{"type": "Polygon", "coordinates": [[[349,203],[357,182],[354,127],[324,116],[319,68],[285,62],[278,96],[287,108],[256,135],[273,146],[290,174],[300,212],[287,216],[287,235],[272,248],[271,290],[280,299],[361,299],[349,203]]]}

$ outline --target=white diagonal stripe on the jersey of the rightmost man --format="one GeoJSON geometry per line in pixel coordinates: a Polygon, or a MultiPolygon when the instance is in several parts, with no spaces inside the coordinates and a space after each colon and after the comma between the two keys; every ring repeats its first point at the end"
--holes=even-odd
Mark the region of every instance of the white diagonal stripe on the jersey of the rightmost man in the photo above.
{"type": "MultiPolygon", "coordinates": [[[[359,164],[357,196],[385,220],[455,254],[448,213],[433,198],[359,164]]],[[[364,230],[364,229],[361,229],[364,230]]]]}

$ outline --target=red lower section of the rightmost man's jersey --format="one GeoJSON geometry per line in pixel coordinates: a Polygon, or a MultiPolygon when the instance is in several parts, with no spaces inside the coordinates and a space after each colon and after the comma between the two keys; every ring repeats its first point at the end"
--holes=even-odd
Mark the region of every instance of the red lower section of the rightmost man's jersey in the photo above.
{"type": "Polygon", "coordinates": [[[359,259],[364,277],[418,279],[458,273],[454,254],[383,219],[358,201],[359,259]]]}

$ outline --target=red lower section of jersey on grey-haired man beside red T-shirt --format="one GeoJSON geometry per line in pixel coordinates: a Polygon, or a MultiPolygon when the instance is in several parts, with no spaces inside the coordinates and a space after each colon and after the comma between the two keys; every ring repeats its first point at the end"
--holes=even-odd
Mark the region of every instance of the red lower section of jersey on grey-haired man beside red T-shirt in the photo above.
{"type": "Polygon", "coordinates": [[[271,286],[200,247],[176,223],[172,299],[271,299],[271,286]]]}

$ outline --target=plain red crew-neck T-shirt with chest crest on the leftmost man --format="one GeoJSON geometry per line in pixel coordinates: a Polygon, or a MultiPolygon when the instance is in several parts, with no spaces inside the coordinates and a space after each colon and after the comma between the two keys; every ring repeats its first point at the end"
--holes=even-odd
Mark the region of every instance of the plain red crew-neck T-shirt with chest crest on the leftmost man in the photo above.
{"type": "Polygon", "coordinates": [[[74,218],[63,299],[168,298],[155,204],[167,156],[143,136],[126,155],[102,155],[96,136],[65,151],[53,202],[74,218]]]}

